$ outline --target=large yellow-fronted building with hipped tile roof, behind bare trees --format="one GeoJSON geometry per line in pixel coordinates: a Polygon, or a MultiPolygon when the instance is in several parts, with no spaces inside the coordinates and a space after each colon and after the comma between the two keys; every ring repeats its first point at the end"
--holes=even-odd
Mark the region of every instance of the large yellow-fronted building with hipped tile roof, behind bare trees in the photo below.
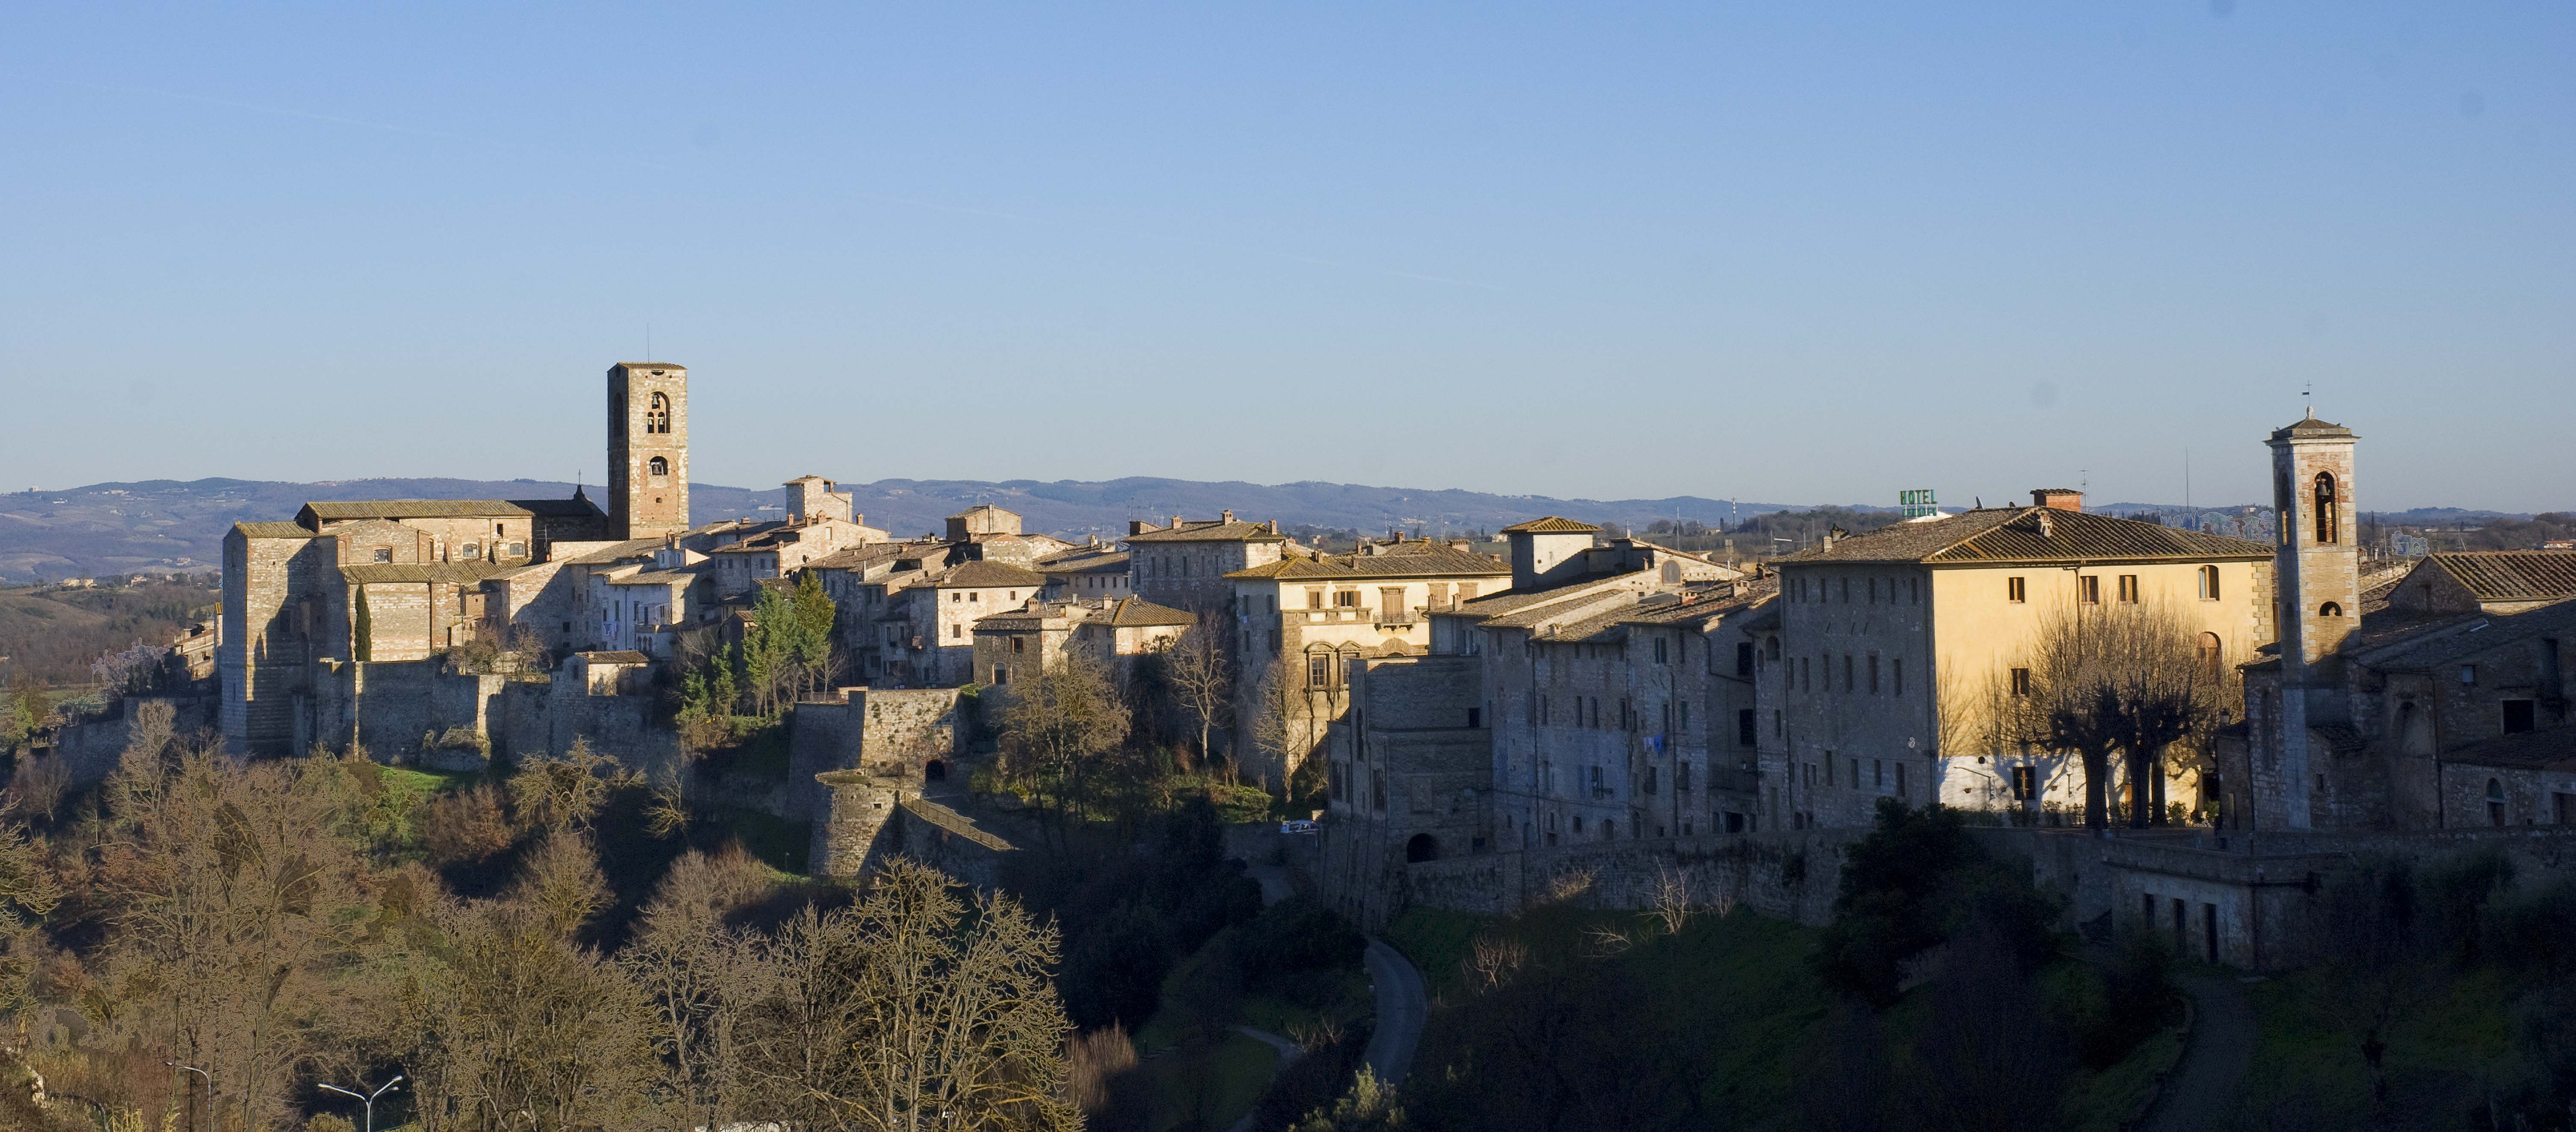
{"type": "Polygon", "coordinates": [[[2269,547],[2087,513],[2071,490],[1829,536],[1775,567],[1780,624],[1754,642],[1770,823],[1868,825],[1880,797],[2081,810],[2079,758],[1978,727],[1981,701],[2027,691],[2056,614],[2161,603],[2213,670],[2272,642],[2269,547]]]}

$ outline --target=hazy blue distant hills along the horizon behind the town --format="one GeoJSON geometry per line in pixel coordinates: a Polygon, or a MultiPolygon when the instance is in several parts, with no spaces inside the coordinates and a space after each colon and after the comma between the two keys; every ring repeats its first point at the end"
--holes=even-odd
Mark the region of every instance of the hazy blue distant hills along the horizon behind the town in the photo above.
{"type": "MultiPolygon", "coordinates": [[[[1656,518],[1721,523],[1785,511],[1780,503],[1726,503],[1698,495],[1664,500],[1558,500],[1468,490],[1365,487],[1340,482],[1195,480],[878,480],[845,482],[868,523],[894,534],[938,531],[976,503],[1018,511],[1030,531],[1126,534],[1128,518],[1242,518],[1352,531],[1494,531],[1538,516],[1646,526],[1656,518]]],[[[240,521],[289,518],[307,500],[526,500],[572,495],[551,480],[142,480],[0,495],[0,580],[95,578],[160,570],[219,570],[224,531],[240,521]]],[[[590,485],[590,498],[603,487],[590,485]]],[[[690,518],[775,516],[778,487],[690,485],[690,518]]]]}

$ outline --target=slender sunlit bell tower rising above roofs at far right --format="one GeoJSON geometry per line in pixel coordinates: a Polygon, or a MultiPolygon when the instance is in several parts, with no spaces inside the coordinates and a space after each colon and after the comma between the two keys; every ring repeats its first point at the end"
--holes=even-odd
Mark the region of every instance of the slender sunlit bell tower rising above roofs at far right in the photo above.
{"type": "Polygon", "coordinates": [[[2352,428],[2306,420],[2272,431],[2280,655],[2293,681],[2362,624],[2362,554],[2352,508],[2352,428]]]}

